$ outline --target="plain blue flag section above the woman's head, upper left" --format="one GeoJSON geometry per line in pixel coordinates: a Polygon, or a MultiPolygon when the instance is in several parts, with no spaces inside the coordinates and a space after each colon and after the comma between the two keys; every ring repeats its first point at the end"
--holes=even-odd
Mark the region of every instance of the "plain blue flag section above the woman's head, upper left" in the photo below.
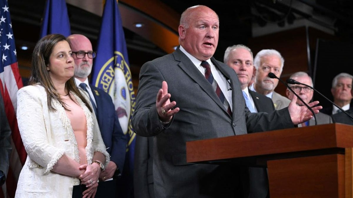
{"type": "Polygon", "coordinates": [[[40,38],[49,34],[71,35],[65,0],[47,0],[44,8],[40,38]]]}

